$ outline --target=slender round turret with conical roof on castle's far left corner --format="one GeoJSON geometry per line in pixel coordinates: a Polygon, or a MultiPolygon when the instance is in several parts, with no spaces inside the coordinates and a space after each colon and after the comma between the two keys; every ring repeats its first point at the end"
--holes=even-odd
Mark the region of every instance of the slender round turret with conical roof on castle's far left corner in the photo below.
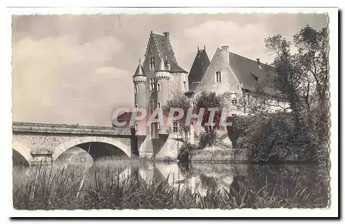
{"type": "MultiPolygon", "coordinates": [[[[141,61],[139,59],[139,65],[135,71],[135,74],[133,75],[135,108],[142,108],[146,110],[146,79],[146,74],[144,73],[143,66],[141,65],[141,61]]],[[[135,130],[137,135],[145,135],[145,121],[142,120],[142,122],[136,122],[135,130]]]]}

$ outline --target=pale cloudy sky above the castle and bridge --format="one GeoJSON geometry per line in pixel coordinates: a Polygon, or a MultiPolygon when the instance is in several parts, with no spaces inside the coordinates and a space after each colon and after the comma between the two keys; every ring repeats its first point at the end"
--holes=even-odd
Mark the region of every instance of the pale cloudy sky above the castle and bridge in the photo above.
{"type": "Polygon", "coordinates": [[[132,75],[150,31],[170,32],[181,68],[197,46],[210,60],[217,48],[270,63],[264,39],[288,40],[326,14],[114,14],[12,17],[12,119],[21,122],[112,125],[112,113],[132,107],[132,75]]]}

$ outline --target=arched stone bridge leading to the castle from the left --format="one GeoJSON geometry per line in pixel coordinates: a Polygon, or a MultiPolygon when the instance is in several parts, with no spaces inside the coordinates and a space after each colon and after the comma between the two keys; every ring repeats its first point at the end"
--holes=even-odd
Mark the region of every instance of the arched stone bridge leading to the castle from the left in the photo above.
{"type": "Polygon", "coordinates": [[[130,128],[48,123],[12,124],[14,161],[32,164],[55,161],[70,147],[81,147],[93,159],[137,154],[137,139],[130,128]]]}

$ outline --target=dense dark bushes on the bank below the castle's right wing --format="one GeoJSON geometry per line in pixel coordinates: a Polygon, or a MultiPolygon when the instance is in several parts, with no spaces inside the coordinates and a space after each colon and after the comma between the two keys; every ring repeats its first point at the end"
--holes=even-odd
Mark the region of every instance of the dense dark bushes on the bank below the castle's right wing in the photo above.
{"type": "Polygon", "coordinates": [[[315,145],[306,133],[296,130],[288,113],[230,117],[230,140],[236,148],[247,148],[255,162],[312,161],[315,145]]]}

